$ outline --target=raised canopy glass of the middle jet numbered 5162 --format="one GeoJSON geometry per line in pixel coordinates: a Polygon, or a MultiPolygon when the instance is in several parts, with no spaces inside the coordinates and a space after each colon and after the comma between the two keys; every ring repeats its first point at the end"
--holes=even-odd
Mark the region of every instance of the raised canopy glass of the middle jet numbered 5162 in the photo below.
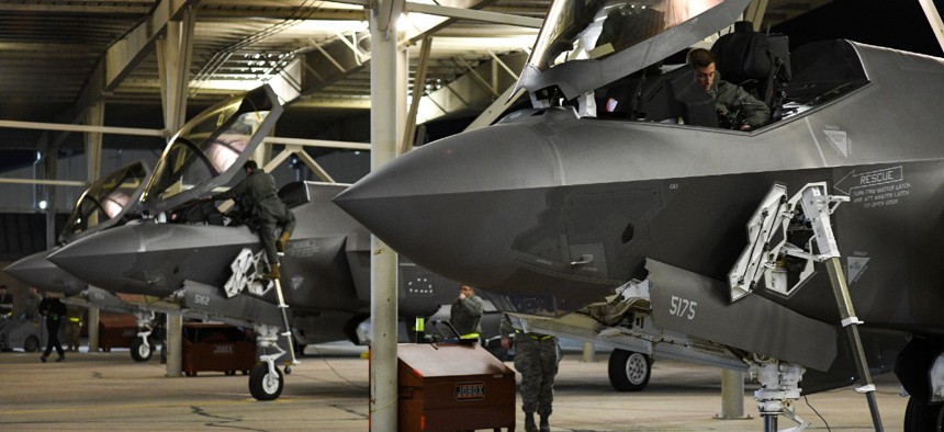
{"type": "Polygon", "coordinates": [[[157,162],[142,197],[145,208],[160,211],[196,197],[183,192],[193,190],[199,195],[225,184],[248,159],[244,154],[254,151],[271,129],[278,117],[271,115],[273,110],[281,113],[277,104],[274,93],[262,87],[188,122],[157,162]],[[170,198],[175,200],[168,203],[170,198]]]}

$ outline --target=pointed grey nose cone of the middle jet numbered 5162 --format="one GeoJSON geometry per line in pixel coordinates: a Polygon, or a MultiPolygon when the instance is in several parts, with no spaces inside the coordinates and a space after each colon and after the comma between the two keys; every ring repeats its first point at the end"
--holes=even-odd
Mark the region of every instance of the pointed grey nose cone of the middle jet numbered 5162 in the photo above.
{"type": "Polygon", "coordinates": [[[76,240],[49,254],[54,264],[79,280],[108,291],[134,292],[143,282],[127,277],[134,270],[139,240],[136,228],[126,225],[76,240]]]}

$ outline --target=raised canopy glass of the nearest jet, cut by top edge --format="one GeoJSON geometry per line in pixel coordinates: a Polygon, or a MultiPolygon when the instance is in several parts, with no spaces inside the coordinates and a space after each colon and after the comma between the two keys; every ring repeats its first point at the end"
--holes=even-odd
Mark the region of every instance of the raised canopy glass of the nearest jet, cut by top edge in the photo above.
{"type": "Polygon", "coordinates": [[[731,25],[748,2],[555,0],[519,86],[557,86],[567,99],[586,93],[731,25]]]}

